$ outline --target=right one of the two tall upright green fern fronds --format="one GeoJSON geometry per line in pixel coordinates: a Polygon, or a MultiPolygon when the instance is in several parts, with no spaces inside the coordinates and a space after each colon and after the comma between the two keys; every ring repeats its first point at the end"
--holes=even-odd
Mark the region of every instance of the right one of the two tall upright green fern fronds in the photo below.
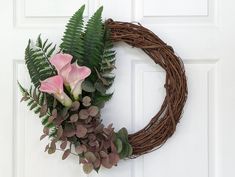
{"type": "Polygon", "coordinates": [[[102,23],[103,7],[100,7],[90,18],[86,25],[84,34],[84,65],[94,71],[94,68],[100,68],[102,61],[104,26],[102,23]]]}

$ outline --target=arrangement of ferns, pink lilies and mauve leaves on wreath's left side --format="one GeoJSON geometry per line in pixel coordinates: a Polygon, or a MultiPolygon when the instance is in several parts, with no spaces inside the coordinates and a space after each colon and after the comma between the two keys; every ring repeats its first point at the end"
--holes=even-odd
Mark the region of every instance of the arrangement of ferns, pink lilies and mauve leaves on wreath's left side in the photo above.
{"type": "Polygon", "coordinates": [[[30,110],[42,120],[43,134],[50,143],[45,152],[64,151],[79,157],[85,173],[111,168],[120,159],[132,155],[125,128],[114,131],[105,127],[100,110],[113,93],[115,51],[109,29],[102,21],[99,8],[84,27],[82,6],[69,20],[62,43],[53,46],[39,35],[25,50],[25,63],[32,86],[25,89],[20,83],[30,110]]]}

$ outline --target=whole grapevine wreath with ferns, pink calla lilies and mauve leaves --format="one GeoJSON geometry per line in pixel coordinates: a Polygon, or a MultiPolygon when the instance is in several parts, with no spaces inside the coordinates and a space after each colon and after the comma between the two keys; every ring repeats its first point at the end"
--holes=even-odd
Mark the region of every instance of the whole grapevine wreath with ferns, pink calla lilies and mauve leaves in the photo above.
{"type": "Polygon", "coordinates": [[[99,8],[84,27],[82,6],[69,20],[57,48],[39,35],[25,50],[32,86],[20,83],[27,101],[42,120],[43,135],[50,143],[45,152],[64,151],[79,157],[85,173],[111,168],[120,159],[135,158],[163,145],[175,132],[187,99],[182,60],[172,47],[140,24],[102,21],[99,8]],[[113,42],[142,49],[166,72],[166,96],[160,111],[143,129],[128,134],[102,124],[100,110],[113,95],[115,51],[113,42]],[[57,50],[57,52],[55,52],[57,50]]]}

